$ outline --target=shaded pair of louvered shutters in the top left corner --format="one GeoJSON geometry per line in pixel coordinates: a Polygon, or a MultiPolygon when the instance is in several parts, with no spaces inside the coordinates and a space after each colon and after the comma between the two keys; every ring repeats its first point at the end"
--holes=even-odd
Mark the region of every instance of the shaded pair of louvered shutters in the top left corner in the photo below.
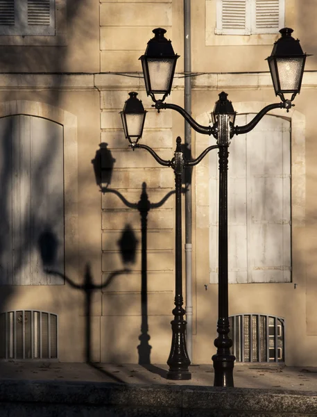
{"type": "Polygon", "coordinates": [[[0,35],[55,35],[55,0],[0,0],[0,35]]]}

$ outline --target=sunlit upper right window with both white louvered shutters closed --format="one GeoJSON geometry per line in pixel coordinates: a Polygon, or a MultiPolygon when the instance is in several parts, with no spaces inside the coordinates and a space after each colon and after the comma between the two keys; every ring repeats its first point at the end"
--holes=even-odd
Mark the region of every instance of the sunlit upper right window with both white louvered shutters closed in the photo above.
{"type": "Polygon", "coordinates": [[[217,0],[217,35],[277,33],[284,27],[284,0],[217,0]]]}

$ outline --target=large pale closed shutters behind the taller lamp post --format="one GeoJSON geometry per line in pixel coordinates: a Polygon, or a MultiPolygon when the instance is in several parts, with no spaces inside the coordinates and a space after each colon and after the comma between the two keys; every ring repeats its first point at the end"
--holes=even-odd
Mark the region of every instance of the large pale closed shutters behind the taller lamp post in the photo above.
{"type": "MultiPolygon", "coordinates": [[[[253,115],[237,116],[242,126],[253,115]]],[[[230,284],[291,280],[291,167],[289,122],[265,116],[234,137],[228,170],[230,284]]],[[[214,153],[216,154],[216,152],[214,153]]],[[[210,156],[209,278],[218,281],[217,156],[210,156]]]]}

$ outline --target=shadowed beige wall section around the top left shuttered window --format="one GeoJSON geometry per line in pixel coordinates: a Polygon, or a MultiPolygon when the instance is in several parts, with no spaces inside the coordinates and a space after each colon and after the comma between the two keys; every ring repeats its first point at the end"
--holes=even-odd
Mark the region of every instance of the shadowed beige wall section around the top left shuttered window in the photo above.
{"type": "Polygon", "coordinates": [[[98,72],[99,4],[56,0],[57,36],[1,36],[0,72],[98,72]]]}

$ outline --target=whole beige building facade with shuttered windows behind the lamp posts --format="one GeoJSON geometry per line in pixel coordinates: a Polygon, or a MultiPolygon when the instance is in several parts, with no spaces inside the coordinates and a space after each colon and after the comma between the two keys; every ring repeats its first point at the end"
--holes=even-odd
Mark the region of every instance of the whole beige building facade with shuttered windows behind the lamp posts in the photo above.
{"type": "MultiPolygon", "coordinates": [[[[183,106],[183,2],[24,3],[0,6],[0,355],[164,363],[174,297],[173,172],[142,149],[132,152],[119,112],[128,92],[139,92],[148,111],[142,143],[173,157],[184,120],[153,110],[138,58],[153,28],[166,28],[181,56],[166,101],[183,106]]],[[[237,360],[316,366],[315,2],[189,3],[187,76],[200,124],[211,123],[221,91],[239,125],[277,102],[265,58],[280,28],[293,28],[313,54],[289,113],[273,111],[232,139],[228,216],[237,360]]],[[[193,156],[212,144],[192,131],[193,156]]],[[[215,152],[191,178],[193,363],[209,363],[215,352],[217,172],[215,152]]]]}

